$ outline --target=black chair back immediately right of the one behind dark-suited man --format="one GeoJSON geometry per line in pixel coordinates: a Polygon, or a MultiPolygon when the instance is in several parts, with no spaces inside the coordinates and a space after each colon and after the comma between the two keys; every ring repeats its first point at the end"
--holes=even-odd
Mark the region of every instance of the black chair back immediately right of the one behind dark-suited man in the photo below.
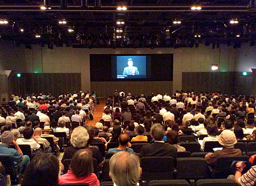
{"type": "Polygon", "coordinates": [[[177,179],[207,179],[208,166],[203,158],[177,158],[177,179]]]}

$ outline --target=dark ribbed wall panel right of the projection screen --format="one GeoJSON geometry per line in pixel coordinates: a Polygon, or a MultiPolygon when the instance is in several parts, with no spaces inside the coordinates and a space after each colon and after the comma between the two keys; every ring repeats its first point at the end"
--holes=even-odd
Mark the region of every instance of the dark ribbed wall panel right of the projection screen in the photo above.
{"type": "Polygon", "coordinates": [[[182,73],[182,89],[196,92],[222,91],[236,95],[252,94],[252,73],[242,72],[188,72],[182,73]]]}

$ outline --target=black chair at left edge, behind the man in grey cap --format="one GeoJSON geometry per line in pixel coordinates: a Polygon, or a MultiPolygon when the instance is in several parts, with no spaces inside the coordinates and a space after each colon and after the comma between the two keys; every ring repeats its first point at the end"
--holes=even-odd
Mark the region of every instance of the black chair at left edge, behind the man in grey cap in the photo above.
{"type": "Polygon", "coordinates": [[[5,172],[10,175],[12,181],[16,181],[20,174],[20,162],[14,165],[13,159],[10,156],[0,156],[0,162],[5,167],[5,172]]]}

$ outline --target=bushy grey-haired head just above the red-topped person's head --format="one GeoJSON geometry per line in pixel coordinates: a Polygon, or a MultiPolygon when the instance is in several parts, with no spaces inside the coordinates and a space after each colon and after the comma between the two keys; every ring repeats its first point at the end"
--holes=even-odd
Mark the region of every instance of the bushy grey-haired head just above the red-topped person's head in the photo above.
{"type": "Polygon", "coordinates": [[[87,146],[89,140],[89,134],[83,126],[74,128],[70,142],[75,148],[82,148],[87,146]]]}

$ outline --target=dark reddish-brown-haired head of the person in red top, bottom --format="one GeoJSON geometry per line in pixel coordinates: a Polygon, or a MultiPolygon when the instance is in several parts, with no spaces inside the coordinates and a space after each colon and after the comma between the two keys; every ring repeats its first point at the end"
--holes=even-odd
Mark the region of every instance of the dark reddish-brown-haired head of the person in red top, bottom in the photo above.
{"type": "Polygon", "coordinates": [[[69,169],[76,178],[88,176],[94,171],[93,155],[88,149],[80,149],[74,153],[69,169]]]}

